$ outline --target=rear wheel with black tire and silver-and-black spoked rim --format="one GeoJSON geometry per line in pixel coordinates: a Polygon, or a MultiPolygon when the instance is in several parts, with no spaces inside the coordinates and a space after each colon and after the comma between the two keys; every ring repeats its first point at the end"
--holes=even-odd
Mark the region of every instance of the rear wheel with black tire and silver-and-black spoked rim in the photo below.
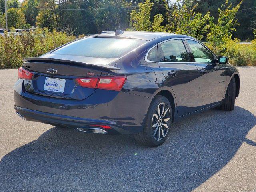
{"type": "Polygon", "coordinates": [[[157,95],[154,97],[154,99],[152,100],[148,108],[148,113],[146,116],[146,121],[144,124],[143,131],[140,133],[134,134],[135,140],[139,144],[149,146],[149,147],[160,146],[164,143],[164,141],[168,137],[171,124],[172,124],[171,104],[166,97],[157,95]],[[158,107],[160,108],[160,110],[158,110],[158,107]],[[159,111],[160,111],[160,115],[159,115],[159,111]]]}

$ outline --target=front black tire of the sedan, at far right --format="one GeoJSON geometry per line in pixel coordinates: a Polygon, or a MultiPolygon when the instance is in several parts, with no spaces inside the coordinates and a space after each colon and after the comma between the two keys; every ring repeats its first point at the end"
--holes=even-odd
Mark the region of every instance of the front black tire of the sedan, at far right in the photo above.
{"type": "Polygon", "coordinates": [[[226,91],[225,99],[222,101],[220,106],[221,110],[232,111],[235,107],[236,100],[236,80],[234,77],[230,80],[226,91]]]}

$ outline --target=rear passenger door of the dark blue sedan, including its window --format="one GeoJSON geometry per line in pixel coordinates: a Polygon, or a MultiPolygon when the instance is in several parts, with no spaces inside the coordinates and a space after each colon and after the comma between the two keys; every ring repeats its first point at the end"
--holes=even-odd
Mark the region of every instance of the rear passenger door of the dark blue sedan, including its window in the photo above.
{"type": "Polygon", "coordinates": [[[198,69],[190,62],[184,40],[172,39],[158,44],[158,62],[165,81],[162,86],[171,87],[176,97],[178,115],[196,111],[198,107],[198,69]]]}

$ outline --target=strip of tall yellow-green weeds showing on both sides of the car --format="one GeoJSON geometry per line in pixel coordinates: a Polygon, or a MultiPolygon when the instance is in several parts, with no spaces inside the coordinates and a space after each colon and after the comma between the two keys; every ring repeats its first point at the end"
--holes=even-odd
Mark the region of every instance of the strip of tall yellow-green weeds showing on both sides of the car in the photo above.
{"type": "MultiPolygon", "coordinates": [[[[49,32],[47,28],[38,29],[21,36],[0,36],[0,68],[18,68],[22,59],[38,57],[75,39],[64,32],[49,32]]],[[[256,39],[252,44],[239,44],[239,40],[229,40],[222,46],[214,47],[207,43],[217,55],[229,57],[234,66],[256,66],[256,39]]]]}

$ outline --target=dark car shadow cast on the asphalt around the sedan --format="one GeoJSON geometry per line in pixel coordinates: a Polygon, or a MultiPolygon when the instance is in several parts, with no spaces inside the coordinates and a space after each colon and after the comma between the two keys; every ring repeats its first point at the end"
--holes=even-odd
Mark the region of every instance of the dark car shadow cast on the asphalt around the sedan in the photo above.
{"type": "Polygon", "coordinates": [[[53,127],[0,161],[3,191],[191,191],[225,166],[256,124],[238,106],[175,122],[157,148],[132,135],[84,134],[53,127]]]}

